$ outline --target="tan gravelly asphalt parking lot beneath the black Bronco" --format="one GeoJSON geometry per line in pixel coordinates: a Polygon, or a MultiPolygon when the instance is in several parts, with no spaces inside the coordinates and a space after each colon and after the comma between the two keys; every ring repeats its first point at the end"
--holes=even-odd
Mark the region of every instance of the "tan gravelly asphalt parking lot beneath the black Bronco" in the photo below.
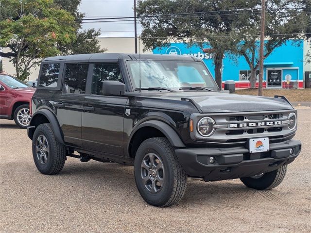
{"type": "Polygon", "coordinates": [[[42,175],[26,130],[0,120],[0,232],[310,232],[310,107],[298,121],[303,150],[275,189],[189,180],[179,204],[157,208],[140,197],[132,166],[68,158],[42,175]]]}

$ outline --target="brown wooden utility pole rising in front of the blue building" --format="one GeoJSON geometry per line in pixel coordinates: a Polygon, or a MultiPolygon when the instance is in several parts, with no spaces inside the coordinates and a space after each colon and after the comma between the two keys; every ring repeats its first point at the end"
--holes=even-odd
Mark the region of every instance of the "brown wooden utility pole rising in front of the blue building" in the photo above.
{"type": "Polygon", "coordinates": [[[264,23],[265,23],[265,0],[261,0],[261,24],[260,24],[260,49],[259,49],[259,87],[258,95],[262,96],[263,79],[263,48],[264,48],[264,23]]]}

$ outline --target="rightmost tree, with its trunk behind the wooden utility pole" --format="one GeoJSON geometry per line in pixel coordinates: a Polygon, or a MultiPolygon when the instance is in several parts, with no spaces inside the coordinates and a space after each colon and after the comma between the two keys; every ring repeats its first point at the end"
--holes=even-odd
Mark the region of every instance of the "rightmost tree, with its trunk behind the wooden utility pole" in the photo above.
{"type": "MultiPolygon", "coordinates": [[[[264,59],[276,48],[283,45],[289,39],[302,38],[304,32],[306,14],[303,10],[293,8],[294,0],[269,0],[266,5],[265,34],[268,35],[264,44],[264,59]],[[292,8],[292,9],[289,9],[292,8]]],[[[296,1],[295,7],[303,7],[296,1]]],[[[233,53],[242,55],[251,70],[249,81],[251,88],[256,88],[256,71],[259,68],[259,32],[260,16],[249,16],[248,24],[241,30],[240,43],[237,43],[233,53]]]]}

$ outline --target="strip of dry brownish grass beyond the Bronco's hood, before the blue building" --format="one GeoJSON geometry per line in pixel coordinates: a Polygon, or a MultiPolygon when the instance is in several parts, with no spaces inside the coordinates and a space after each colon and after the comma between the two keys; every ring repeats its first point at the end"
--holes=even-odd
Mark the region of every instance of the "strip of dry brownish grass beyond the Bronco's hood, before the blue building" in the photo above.
{"type": "MultiPolygon", "coordinates": [[[[258,96],[258,89],[236,90],[236,94],[258,96]]],[[[262,95],[267,97],[285,96],[293,102],[311,101],[311,88],[308,89],[263,89],[262,95]]]]}

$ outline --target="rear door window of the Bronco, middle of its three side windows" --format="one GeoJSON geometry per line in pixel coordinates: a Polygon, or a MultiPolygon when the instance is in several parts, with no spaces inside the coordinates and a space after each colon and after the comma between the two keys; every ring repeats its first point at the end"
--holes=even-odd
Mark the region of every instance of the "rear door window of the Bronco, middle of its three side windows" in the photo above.
{"type": "Polygon", "coordinates": [[[67,64],[65,71],[65,88],[67,93],[85,94],[88,64],[67,64]]]}

